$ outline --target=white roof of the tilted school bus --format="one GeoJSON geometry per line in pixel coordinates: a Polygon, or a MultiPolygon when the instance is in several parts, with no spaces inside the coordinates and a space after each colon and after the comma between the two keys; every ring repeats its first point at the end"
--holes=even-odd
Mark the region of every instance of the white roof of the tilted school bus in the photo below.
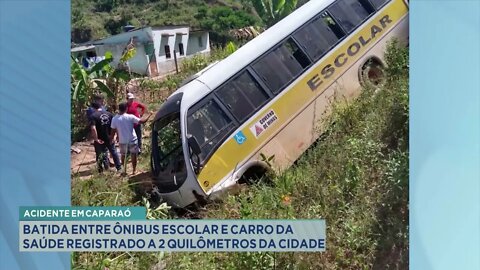
{"type": "MultiPolygon", "coordinates": [[[[334,1],[335,0],[317,0],[305,3],[283,20],[239,48],[233,54],[216,63],[195,80],[202,82],[211,90],[216,89],[334,1]]],[[[198,89],[198,87],[189,89],[189,85],[190,83],[178,90],[184,92],[182,103],[187,103],[188,107],[211,92],[211,90],[206,87],[202,88],[201,91],[199,91],[200,89],[198,89]]]]}

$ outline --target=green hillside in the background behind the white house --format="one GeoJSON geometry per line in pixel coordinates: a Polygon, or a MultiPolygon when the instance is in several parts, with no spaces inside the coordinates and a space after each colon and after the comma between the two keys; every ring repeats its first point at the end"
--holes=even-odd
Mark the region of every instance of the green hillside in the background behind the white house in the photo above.
{"type": "Polygon", "coordinates": [[[213,32],[214,41],[231,29],[264,26],[250,0],[72,0],[71,20],[73,43],[118,34],[125,25],[186,24],[213,32]]]}

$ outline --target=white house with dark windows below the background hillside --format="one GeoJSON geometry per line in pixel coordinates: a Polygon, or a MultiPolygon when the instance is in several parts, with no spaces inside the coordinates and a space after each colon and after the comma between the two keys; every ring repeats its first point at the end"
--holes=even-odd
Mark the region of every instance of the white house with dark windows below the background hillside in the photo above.
{"type": "Polygon", "coordinates": [[[113,54],[113,66],[118,67],[120,57],[132,42],[135,56],[127,62],[127,68],[134,73],[157,76],[175,70],[177,64],[195,54],[210,53],[209,33],[192,31],[188,26],[144,27],[133,29],[101,40],[72,48],[77,59],[87,65],[102,59],[106,52],[113,54]],[[97,57],[98,56],[98,57],[97,57]],[[176,56],[176,57],[175,57],[176,56]]]}

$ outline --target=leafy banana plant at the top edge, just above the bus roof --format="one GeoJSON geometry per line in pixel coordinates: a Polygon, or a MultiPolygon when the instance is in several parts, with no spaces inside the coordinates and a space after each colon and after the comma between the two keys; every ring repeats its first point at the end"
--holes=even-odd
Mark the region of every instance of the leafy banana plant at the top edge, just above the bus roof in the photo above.
{"type": "Polygon", "coordinates": [[[249,0],[258,16],[268,26],[272,26],[297,7],[298,0],[249,0]]]}

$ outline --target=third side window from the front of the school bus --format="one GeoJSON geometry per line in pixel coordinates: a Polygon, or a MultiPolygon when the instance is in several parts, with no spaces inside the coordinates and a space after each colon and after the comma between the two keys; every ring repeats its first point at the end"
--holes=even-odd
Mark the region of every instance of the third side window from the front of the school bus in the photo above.
{"type": "Polygon", "coordinates": [[[308,65],[310,60],[290,38],[263,56],[252,67],[270,90],[277,94],[308,65]]]}

